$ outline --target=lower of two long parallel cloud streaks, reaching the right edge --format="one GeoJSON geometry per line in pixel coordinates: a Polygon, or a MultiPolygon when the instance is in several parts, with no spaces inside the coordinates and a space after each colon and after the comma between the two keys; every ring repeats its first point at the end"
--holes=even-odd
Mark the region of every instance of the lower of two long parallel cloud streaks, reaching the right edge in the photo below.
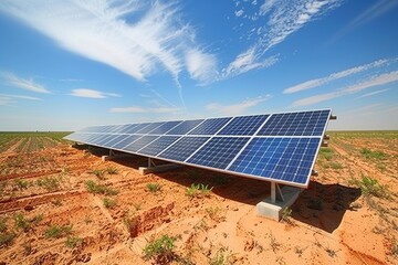
{"type": "Polygon", "coordinates": [[[358,93],[358,92],[362,92],[362,91],[365,91],[365,89],[368,89],[368,88],[371,88],[375,86],[386,85],[386,84],[397,82],[397,81],[398,81],[398,71],[394,71],[394,72],[390,72],[387,74],[380,74],[380,75],[374,76],[373,78],[367,80],[367,81],[362,81],[355,85],[347,86],[347,87],[336,91],[336,92],[315,95],[315,96],[298,99],[293,103],[293,106],[308,106],[308,105],[313,105],[316,103],[329,100],[329,99],[333,99],[336,97],[355,94],[355,93],[358,93]]]}

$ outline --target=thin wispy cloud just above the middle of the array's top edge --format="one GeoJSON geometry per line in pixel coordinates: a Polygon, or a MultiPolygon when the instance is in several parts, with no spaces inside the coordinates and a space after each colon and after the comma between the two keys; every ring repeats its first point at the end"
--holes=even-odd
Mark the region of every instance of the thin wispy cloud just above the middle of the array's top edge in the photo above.
{"type": "Polygon", "coordinates": [[[254,107],[265,100],[268,100],[271,95],[259,96],[254,98],[248,98],[241,103],[233,105],[221,105],[218,103],[211,103],[206,106],[206,109],[220,113],[222,115],[238,115],[245,113],[249,108],[254,107]]]}

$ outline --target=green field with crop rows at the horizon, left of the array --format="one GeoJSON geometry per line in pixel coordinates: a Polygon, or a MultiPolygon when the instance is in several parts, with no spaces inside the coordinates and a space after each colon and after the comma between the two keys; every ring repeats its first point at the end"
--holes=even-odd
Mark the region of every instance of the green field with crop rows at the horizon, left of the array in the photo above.
{"type": "Polygon", "coordinates": [[[48,147],[54,147],[65,141],[62,138],[70,131],[1,131],[0,152],[14,147],[14,151],[32,152],[48,147]]]}

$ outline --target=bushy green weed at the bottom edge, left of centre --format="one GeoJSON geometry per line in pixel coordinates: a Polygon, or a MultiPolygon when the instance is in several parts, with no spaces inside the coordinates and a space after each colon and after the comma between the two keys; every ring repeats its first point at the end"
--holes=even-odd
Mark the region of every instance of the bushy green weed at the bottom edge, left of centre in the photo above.
{"type": "Polygon", "coordinates": [[[155,259],[156,264],[166,264],[175,259],[176,239],[168,235],[149,242],[143,250],[145,259],[155,259]]]}

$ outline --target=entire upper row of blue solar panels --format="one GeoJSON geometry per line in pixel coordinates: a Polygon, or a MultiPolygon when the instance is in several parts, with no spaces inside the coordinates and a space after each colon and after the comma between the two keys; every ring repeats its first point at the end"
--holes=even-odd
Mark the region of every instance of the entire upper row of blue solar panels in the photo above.
{"type": "Polygon", "coordinates": [[[94,126],[82,132],[138,135],[321,136],[329,110],[94,126]]]}

